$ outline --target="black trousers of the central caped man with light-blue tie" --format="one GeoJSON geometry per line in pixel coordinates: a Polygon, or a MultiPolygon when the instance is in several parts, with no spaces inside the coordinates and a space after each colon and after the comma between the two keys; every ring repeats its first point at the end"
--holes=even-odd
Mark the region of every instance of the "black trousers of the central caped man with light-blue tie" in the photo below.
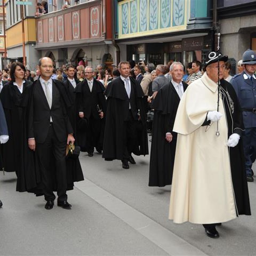
{"type": "Polygon", "coordinates": [[[132,111],[129,111],[129,116],[124,122],[124,138],[123,138],[123,160],[128,161],[135,145],[138,144],[138,134],[136,122],[132,116],[132,111]]]}

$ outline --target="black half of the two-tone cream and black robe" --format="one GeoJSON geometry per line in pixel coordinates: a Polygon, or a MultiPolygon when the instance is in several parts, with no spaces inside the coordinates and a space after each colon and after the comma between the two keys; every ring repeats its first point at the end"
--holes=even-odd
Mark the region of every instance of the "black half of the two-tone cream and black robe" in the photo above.
{"type": "Polygon", "coordinates": [[[228,138],[232,133],[238,133],[240,135],[238,145],[236,147],[229,148],[231,175],[236,198],[237,211],[238,214],[251,215],[249,192],[244,164],[244,149],[242,141],[242,130],[244,129],[244,125],[241,107],[239,105],[239,101],[233,86],[224,79],[221,79],[220,81],[220,92],[227,117],[228,138]],[[226,91],[234,102],[234,113],[230,113],[229,111],[231,107],[226,91]]]}

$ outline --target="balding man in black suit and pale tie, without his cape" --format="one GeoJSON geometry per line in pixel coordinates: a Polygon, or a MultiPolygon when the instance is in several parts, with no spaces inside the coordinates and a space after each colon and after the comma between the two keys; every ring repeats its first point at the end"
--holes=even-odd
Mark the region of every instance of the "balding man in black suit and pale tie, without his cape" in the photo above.
{"type": "Polygon", "coordinates": [[[67,202],[66,145],[74,143],[73,128],[70,124],[66,103],[69,100],[65,86],[53,80],[53,62],[50,58],[41,58],[38,62],[41,77],[34,82],[29,110],[28,146],[34,150],[39,162],[45,209],[54,205],[54,179],[57,181],[58,206],[70,209],[67,202]],[[54,156],[53,164],[51,161],[54,156]],[[53,178],[52,165],[56,175],[53,178]]]}

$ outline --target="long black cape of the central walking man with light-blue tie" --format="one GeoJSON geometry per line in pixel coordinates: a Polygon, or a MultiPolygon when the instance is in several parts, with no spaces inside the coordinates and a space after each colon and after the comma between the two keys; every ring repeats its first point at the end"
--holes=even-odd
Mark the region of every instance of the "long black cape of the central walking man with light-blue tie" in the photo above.
{"type": "MultiPolygon", "coordinates": [[[[141,86],[130,77],[131,81],[131,94],[133,96],[132,107],[136,113],[140,110],[140,120],[136,121],[137,130],[137,145],[134,145],[132,153],[135,155],[148,154],[148,138],[146,130],[146,114],[143,104],[144,93],[141,86]]],[[[124,82],[120,77],[114,79],[108,84],[105,91],[107,96],[107,113],[106,113],[106,126],[105,136],[103,141],[102,157],[106,161],[114,159],[123,159],[123,138],[125,134],[125,116],[128,116],[129,102],[131,99],[125,90],[124,82]]]]}

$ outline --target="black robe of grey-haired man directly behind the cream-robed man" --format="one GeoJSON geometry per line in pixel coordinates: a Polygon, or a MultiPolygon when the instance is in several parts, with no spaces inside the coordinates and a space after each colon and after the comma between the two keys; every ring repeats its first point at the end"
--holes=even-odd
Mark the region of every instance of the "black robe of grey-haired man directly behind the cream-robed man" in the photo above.
{"type": "MultiPolygon", "coordinates": [[[[187,84],[182,83],[185,91],[187,84]]],[[[154,120],[149,164],[149,186],[164,187],[172,183],[177,143],[177,133],[173,132],[172,129],[179,103],[180,97],[170,83],[158,91],[151,106],[154,109],[154,120]],[[165,139],[166,132],[172,134],[170,143],[165,139]]]]}

